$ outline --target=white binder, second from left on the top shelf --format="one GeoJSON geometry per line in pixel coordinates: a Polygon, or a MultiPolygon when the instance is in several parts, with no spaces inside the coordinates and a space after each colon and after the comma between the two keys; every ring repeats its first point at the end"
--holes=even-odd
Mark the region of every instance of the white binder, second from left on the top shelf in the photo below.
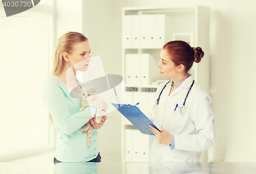
{"type": "Polygon", "coordinates": [[[132,15],[132,46],[140,46],[140,16],[132,15]]]}

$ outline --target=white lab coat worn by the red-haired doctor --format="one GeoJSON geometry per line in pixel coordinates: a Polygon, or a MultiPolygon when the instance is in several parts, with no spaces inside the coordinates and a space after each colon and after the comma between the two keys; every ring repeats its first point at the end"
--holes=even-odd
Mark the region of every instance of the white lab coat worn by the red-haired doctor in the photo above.
{"type": "MultiPolygon", "coordinates": [[[[215,145],[215,120],[211,111],[211,98],[196,82],[188,94],[185,113],[181,114],[179,111],[193,80],[191,75],[170,95],[173,80],[163,90],[153,123],[158,129],[174,135],[175,148],[170,150],[169,144],[159,144],[156,136],[150,135],[149,162],[198,162],[201,152],[215,145]],[[176,104],[178,107],[174,111],[176,104]]],[[[150,119],[155,102],[166,83],[159,84],[157,88],[152,110],[148,115],[150,119]]]]}

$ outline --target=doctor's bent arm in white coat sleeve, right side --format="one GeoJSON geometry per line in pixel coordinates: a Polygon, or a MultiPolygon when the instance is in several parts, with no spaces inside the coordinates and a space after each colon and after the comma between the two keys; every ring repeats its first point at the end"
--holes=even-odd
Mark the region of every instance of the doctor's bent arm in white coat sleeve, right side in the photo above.
{"type": "Polygon", "coordinates": [[[211,110],[211,98],[201,92],[191,105],[191,119],[195,123],[196,135],[174,135],[175,148],[202,152],[215,145],[215,120],[211,110]]]}

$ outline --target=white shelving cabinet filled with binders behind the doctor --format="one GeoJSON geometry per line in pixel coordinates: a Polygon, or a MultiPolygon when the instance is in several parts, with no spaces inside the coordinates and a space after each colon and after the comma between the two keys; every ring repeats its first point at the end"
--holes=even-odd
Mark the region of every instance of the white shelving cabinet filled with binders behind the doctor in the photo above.
{"type": "MultiPolygon", "coordinates": [[[[203,49],[201,62],[194,62],[189,72],[209,93],[208,7],[123,8],[122,27],[122,76],[127,104],[140,102],[138,107],[145,115],[153,110],[153,96],[158,85],[152,85],[152,82],[162,79],[156,65],[163,45],[172,40],[183,40],[192,47],[203,49]]],[[[148,158],[148,135],[140,133],[122,117],[122,161],[145,161],[148,158]]]]}

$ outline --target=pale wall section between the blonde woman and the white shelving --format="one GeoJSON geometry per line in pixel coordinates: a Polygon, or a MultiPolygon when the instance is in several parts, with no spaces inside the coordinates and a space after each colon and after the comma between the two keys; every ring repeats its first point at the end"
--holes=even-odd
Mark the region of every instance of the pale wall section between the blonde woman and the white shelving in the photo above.
{"type": "MultiPolygon", "coordinates": [[[[116,43],[114,1],[83,1],[83,31],[88,38],[91,54],[100,55],[105,74],[121,75],[121,54],[117,49],[121,42],[116,43]]],[[[121,14],[120,14],[121,15],[121,14]]],[[[120,45],[121,49],[121,45],[120,45]]],[[[116,110],[106,114],[104,126],[98,130],[99,152],[102,162],[111,159],[121,161],[121,117],[116,110]]],[[[106,161],[108,162],[108,161],[106,161]]]]}

